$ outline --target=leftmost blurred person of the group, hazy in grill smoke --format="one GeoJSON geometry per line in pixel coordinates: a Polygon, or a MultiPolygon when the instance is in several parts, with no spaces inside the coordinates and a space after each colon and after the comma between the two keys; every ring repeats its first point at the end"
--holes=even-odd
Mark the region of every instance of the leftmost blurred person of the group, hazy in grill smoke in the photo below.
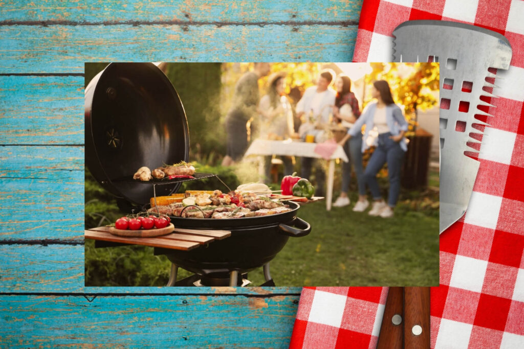
{"type": "Polygon", "coordinates": [[[257,118],[260,100],[258,79],[269,74],[269,63],[257,62],[253,71],[246,72],[235,85],[233,103],[228,111],[226,126],[226,156],[222,166],[233,165],[242,158],[248,147],[247,124],[257,118]]]}

